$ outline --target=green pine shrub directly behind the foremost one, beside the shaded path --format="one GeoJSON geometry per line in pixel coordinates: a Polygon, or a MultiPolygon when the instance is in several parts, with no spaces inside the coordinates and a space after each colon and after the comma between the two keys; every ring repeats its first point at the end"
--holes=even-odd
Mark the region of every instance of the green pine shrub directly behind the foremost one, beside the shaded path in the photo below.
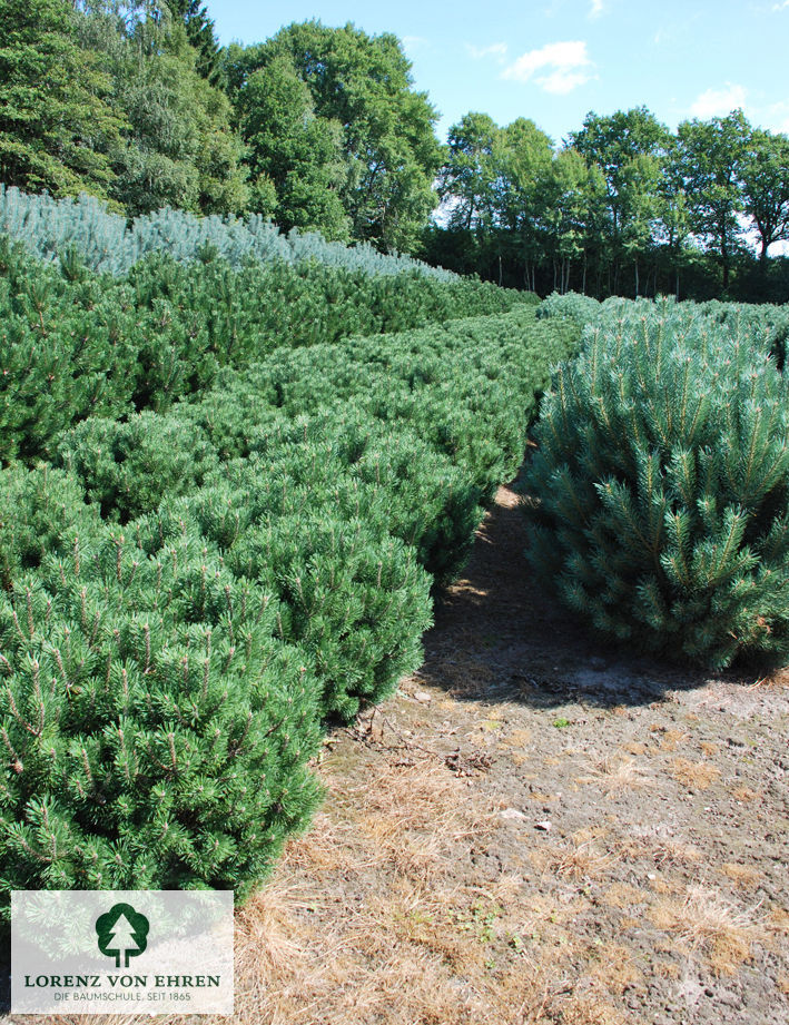
{"type": "Polygon", "coordinates": [[[279,635],[314,658],[322,716],[347,721],[418,668],[431,580],[385,513],[335,502],[353,483],[296,483],[285,464],[239,463],[229,485],[186,501],[228,570],[279,600],[279,635]]]}

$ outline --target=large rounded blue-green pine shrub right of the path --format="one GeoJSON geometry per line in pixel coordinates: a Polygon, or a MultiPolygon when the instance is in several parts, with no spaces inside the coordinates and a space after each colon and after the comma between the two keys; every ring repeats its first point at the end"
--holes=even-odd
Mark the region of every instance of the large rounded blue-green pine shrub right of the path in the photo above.
{"type": "MultiPolygon", "coordinates": [[[[631,304],[631,307],[635,304],[631,304]]],[[[642,306],[559,369],[529,558],[603,633],[711,667],[789,657],[787,385],[748,332],[642,306]]]]}

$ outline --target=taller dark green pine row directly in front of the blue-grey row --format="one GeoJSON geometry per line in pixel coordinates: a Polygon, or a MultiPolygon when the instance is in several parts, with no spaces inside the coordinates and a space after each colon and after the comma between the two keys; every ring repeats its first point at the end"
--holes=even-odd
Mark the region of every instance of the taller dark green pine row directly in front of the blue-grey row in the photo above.
{"type": "Polygon", "coordinates": [[[162,412],[276,347],[505,312],[521,294],[417,270],[154,254],[125,277],[68,253],[45,265],[0,239],[0,462],[48,457],[63,430],[162,412]]]}

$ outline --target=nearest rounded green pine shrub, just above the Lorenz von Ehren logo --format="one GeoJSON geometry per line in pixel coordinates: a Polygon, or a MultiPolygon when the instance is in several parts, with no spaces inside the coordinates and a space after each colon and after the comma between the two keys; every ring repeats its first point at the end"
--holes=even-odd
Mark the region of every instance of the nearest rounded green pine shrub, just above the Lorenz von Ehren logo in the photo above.
{"type": "Polygon", "coordinates": [[[0,592],[6,896],[243,899],[318,798],[317,683],[277,601],[184,515],[136,538],[107,529],[0,592]]]}

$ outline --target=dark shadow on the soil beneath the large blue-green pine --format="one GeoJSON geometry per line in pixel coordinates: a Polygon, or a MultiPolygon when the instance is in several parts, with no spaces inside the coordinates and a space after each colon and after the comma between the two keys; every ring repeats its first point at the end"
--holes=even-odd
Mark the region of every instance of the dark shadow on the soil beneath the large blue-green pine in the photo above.
{"type": "Polygon", "coordinates": [[[662,700],[711,679],[752,683],[634,657],[559,607],[531,574],[526,523],[512,487],[501,487],[461,579],[436,600],[420,677],[464,700],[522,700],[551,708],[580,700],[610,708],[662,700]]]}

